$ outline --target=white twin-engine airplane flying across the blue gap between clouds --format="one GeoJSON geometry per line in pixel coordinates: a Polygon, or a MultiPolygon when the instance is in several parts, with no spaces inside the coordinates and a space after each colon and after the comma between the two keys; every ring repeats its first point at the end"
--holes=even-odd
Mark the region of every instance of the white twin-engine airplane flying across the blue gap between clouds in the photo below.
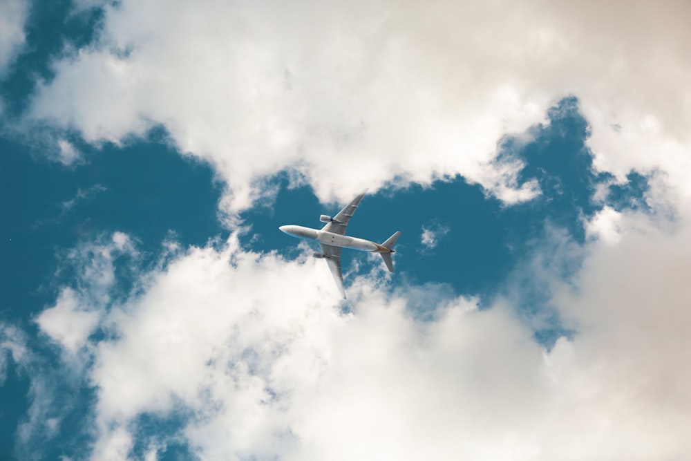
{"type": "MultiPolygon", "coordinates": [[[[365,191],[366,192],[366,191],[365,191]]],[[[314,253],[312,256],[321,258],[326,261],[331,270],[332,276],[336,286],[341,292],[343,299],[345,298],[345,290],[343,289],[343,273],[341,272],[341,248],[352,248],[353,250],[360,250],[362,252],[374,252],[381,254],[384,263],[389,272],[393,272],[393,260],[391,255],[395,253],[393,245],[395,245],[401,232],[395,232],[384,243],[375,243],[364,238],[350,237],[345,235],[345,228],[348,227],[348,221],[352,218],[357,206],[360,205],[365,192],[355,197],[352,202],[345,205],[339,214],[333,218],[328,215],[319,216],[322,223],[326,223],[321,229],[311,229],[310,227],[303,227],[297,225],[285,225],[278,227],[281,232],[297,237],[305,238],[306,240],[316,240],[321,245],[321,253],[314,253]]]]}

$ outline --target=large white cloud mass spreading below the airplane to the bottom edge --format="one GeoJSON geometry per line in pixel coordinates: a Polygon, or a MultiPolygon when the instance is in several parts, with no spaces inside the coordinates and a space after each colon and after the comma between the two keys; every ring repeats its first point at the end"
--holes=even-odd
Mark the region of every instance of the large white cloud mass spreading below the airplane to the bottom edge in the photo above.
{"type": "MultiPolygon", "coordinates": [[[[175,442],[209,459],[683,457],[691,239],[685,223],[644,218],[623,211],[617,241],[571,245],[583,263],[568,281],[526,266],[574,331],[551,350],[511,297],[482,310],[428,297],[421,317],[419,290],[391,291],[375,270],[344,312],[306,250],[248,252],[235,234],[178,250],[87,339],[91,456],[175,442]],[[145,415],[178,429],[140,426],[145,415]]],[[[536,261],[552,261],[542,248],[536,261]]]]}

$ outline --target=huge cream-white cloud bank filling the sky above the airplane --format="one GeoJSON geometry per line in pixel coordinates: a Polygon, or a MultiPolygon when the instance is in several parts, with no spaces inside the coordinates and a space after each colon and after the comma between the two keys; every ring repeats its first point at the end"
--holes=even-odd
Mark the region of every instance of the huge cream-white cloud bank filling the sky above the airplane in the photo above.
{"type": "Polygon", "coordinates": [[[230,210],[284,169],[322,200],[457,173],[529,200],[536,184],[493,160],[498,143],[569,94],[598,168],[659,168],[690,193],[683,1],[125,0],[104,12],[97,41],[53,63],[30,118],[96,144],[162,124],[227,180],[230,210]]]}

